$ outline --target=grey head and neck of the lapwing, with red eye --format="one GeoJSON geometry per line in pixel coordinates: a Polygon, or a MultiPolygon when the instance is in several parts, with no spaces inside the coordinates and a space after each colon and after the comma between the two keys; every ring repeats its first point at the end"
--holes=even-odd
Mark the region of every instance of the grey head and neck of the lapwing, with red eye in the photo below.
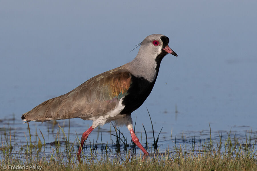
{"type": "Polygon", "coordinates": [[[128,66],[132,74],[152,82],[158,74],[160,62],[166,54],[178,56],[169,46],[169,38],[162,34],[151,34],[139,45],[136,58],[128,66]]]}

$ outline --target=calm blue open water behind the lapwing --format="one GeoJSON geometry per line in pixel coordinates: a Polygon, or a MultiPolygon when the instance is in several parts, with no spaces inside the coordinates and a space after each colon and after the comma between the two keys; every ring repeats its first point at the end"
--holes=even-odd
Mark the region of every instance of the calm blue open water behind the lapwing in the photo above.
{"type": "MultiPolygon", "coordinates": [[[[142,123],[152,140],[146,108],[156,136],[163,128],[162,150],[182,135],[207,139],[209,123],[218,139],[218,131],[226,135],[231,129],[242,139],[246,131],[256,131],[257,2],[167,1],[160,3],[161,10],[157,3],[1,2],[1,134],[11,126],[25,143],[23,113],[131,61],[138,49],[129,51],[154,33],[168,36],[178,57],[165,56],[152,93],[132,113],[142,143],[142,123]],[[13,113],[14,123],[7,121],[13,113]]],[[[75,141],[75,131],[80,138],[91,124],[72,119],[70,141],[75,141]]],[[[32,132],[35,125],[44,134],[51,127],[30,123],[32,132]]],[[[111,143],[109,129],[107,124],[100,131],[103,141],[111,143]]],[[[127,128],[121,131],[130,142],[127,128]]],[[[54,141],[56,132],[57,126],[47,143],[54,141]]],[[[90,141],[99,141],[98,132],[91,133],[90,141]]]]}

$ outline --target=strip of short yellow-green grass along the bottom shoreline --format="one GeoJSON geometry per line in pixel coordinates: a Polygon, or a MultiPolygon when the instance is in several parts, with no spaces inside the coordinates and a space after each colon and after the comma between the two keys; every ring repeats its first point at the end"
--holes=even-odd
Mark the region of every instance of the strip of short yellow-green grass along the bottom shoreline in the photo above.
{"type": "MultiPolygon", "coordinates": [[[[42,170],[257,170],[256,153],[239,150],[221,152],[205,144],[202,150],[185,150],[179,146],[174,152],[156,153],[149,157],[133,155],[128,151],[125,156],[111,157],[98,153],[78,162],[76,158],[55,153],[38,158],[36,155],[25,160],[3,157],[1,166],[40,166],[42,170]],[[100,155],[100,157],[99,157],[100,155]],[[144,158],[144,159],[142,159],[144,158]],[[69,159],[69,161],[67,161],[69,159]]],[[[17,155],[17,154],[16,154],[17,155]]],[[[19,156],[18,156],[19,157],[19,156]]],[[[2,168],[0,168],[2,170],[2,168]]]]}

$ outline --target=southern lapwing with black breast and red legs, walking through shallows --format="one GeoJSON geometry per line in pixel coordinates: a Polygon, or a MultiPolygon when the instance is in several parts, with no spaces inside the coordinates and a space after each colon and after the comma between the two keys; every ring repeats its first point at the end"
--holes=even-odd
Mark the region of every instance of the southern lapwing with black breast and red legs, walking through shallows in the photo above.
{"type": "Polygon", "coordinates": [[[24,113],[21,119],[42,123],[69,118],[92,120],[93,125],[81,137],[81,147],[93,129],[115,121],[117,126],[127,126],[132,141],[148,155],[133,131],[130,115],[152,91],[162,58],[168,53],[177,56],[168,43],[169,38],[162,34],[147,36],[138,44],[141,45],[138,54],[131,62],[99,74],[69,93],[41,103],[24,113]]]}

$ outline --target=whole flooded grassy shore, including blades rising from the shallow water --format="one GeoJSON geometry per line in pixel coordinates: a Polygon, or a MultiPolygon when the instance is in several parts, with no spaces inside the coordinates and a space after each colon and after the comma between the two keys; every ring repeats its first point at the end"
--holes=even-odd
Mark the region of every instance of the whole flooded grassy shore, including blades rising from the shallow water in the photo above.
{"type": "Polygon", "coordinates": [[[23,145],[14,138],[15,130],[12,133],[11,130],[13,129],[11,127],[9,131],[4,128],[0,143],[0,170],[6,170],[5,166],[9,170],[12,170],[11,166],[35,166],[38,167],[36,170],[39,170],[39,167],[42,167],[41,170],[98,171],[257,170],[256,135],[252,134],[251,129],[246,132],[244,142],[239,141],[235,135],[232,137],[231,130],[226,136],[222,135],[222,132],[221,134],[218,132],[219,139],[215,140],[212,137],[211,127],[209,138],[202,140],[204,143],[201,143],[200,138],[200,141],[198,141],[195,137],[188,138],[183,133],[180,141],[184,142],[184,146],[175,143],[174,147],[167,147],[164,152],[159,152],[157,142],[160,133],[157,139],[154,139],[153,144],[151,143],[154,147],[154,150],[151,151],[151,148],[148,147],[150,140],[147,139],[146,130],[143,126],[146,135],[146,146],[150,155],[141,156],[135,153],[134,144],[129,145],[127,138],[121,133],[120,129],[114,127],[115,133],[112,135],[115,140],[112,141],[112,144],[103,143],[101,135],[101,144],[98,144],[97,141],[94,143],[93,140],[93,143],[89,142],[84,145],[81,158],[78,160],[76,152],[80,144],[79,137],[73,143],[69,142],[70,129],[68,130],[68,136],[66,136],[64,125],[63,127],[58,125],[57,128],[55,141],[52,143],[46,143],[43,133],[39,130],[44,140],[44,143],[42,143],[42,138],[37,132],[35,133],[35,141],[32,141],[28,124],[29,139],[24,133],[26,143],[23,145]],[[49,145],[51,146],[49,147],[49,145]],[[125,153],[121,153],[121,149],[125,153]],[[83,153],[85,151],[87,153],[83,153]]]}

